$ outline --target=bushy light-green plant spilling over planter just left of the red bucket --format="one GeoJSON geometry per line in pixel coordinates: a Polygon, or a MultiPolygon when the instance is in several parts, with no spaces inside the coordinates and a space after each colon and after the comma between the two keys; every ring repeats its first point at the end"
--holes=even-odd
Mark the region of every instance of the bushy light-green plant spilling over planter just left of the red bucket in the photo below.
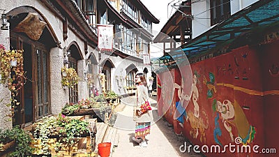
{"type": "Polygon", "coordinates": [[[74,137],[80,137],[83,133],[89,133],[89,124],[79,119],[70,119],[63,114],[58,117],[44,117],[43,121],[38,123],[33,136],[38,141],[35,146],[37,155],[50,154],[50,137],[59,137],[52,147],[59,151],[61,147],[73,146],[74,137]]]}

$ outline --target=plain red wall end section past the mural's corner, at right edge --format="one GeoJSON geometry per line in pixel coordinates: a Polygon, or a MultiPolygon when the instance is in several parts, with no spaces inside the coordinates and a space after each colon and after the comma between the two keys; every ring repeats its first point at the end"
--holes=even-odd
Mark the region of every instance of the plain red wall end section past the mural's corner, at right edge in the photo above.
{"type": "MultiPolygon", "coordinates": [[[[278,109],[279,109],[279,40],[262,45],[260,61],[262,67],[262,81],[264,96],[264,144],[267,148],[278,148],[278,109]]],[[[278,152],[279,154],[279,152],[278,152]]],[[[279,156],[279,155],[276,156],[279,156]]]]}

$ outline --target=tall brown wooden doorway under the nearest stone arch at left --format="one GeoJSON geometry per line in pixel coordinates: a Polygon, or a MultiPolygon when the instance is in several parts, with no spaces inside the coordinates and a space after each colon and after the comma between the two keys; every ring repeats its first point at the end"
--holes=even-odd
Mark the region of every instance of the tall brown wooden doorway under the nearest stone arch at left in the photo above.
{"type": "Polygon", "coordinates": [[[10,33],[10,49],[24,50],[24,72],[27,80],[20,89],[13,126],[27,126],[50,114],[49,50],[45,45],[10,33]]]}

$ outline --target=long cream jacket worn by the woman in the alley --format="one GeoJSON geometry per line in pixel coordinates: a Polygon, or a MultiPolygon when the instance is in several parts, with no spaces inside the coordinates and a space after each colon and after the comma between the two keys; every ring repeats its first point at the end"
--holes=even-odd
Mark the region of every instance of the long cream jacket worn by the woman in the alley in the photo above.
{"type": "MultiPolygon", "coordinates": [[[[140,110],[140,106],[145,103],[146,100],[149,100],[147,87],[140,84],[137,86],[137,105],[135,109],[140,110]]],[[[134,111],[135,112],[135,111],[134,111]]],[[[136,122],[150,122],[153,119],[152,110],[149,110],[147,113],[140,116],[135,116],[136,122]]]]}

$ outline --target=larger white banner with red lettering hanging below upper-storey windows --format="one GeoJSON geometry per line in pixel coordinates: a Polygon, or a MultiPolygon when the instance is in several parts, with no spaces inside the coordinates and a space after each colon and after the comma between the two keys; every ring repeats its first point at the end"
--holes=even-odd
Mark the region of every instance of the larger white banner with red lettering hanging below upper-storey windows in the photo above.
{"type": "Polygon", "coordinates": [[[100,50],[112,50],[113,45],[113,25],[98,25],[98,47],[100,50]]]}

